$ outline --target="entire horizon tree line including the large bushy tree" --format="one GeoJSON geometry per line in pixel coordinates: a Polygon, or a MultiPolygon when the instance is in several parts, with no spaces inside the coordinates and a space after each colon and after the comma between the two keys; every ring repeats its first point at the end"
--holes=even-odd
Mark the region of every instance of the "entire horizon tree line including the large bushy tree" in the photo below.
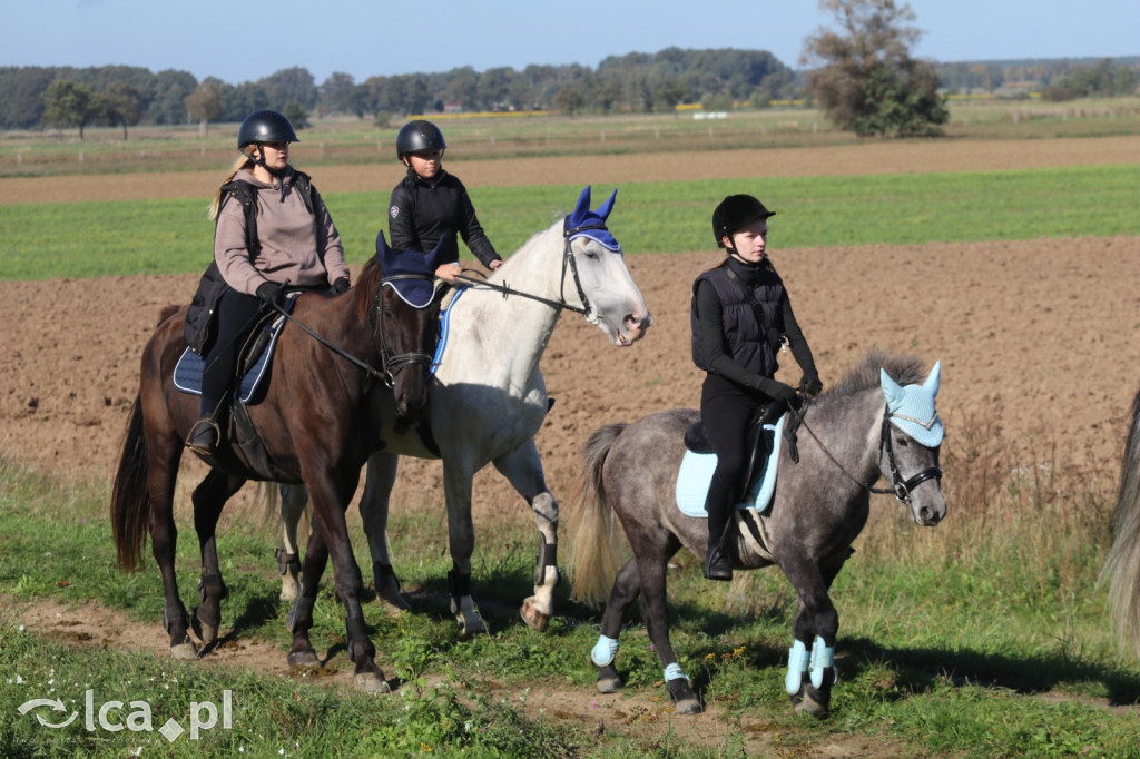
{"type": "Polygon", "coordinates": [[[1140,58],[1094,64],[1008,62],[936,64],[912,55],[922,32],[913,11],[895,0],[820,0],[834,17],[804,41],[796,72],[765,50],[630,52],[577,64],[530,65],[477,72],[471,66],[434,74],[375,75],[363,82],[335,72],[319,85],[303,67],[253,82],[197,81],[181,71],[132,66],[0,67],[0,129],[128,128],[236,122],[260,108],[282,111],[299,128],[310,114],[355,114],[376,123],[443,111],[673,112],[678,105],[728,111],[773,100],[819,105],[840,129],[861,136],[937,136],[948,120],[952,91],[996,92],[1033,88],[1064,100],[1137,91],[1140,58]],[[1026,82],[1029,82],[1027,84],[1026,82]]]}

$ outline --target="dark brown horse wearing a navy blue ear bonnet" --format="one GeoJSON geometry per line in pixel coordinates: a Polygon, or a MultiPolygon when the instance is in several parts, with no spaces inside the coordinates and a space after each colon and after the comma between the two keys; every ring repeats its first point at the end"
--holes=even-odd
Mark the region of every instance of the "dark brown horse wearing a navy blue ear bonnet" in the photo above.
{"type": "MultiPolygon", "coordinates": [[[[194,527],[202,552],[202,605],[195,612],[195,629],[203,644],[217,640],[220,602],[226,597],[214,539],[222,506],[247,480],[303,482],[318,528],[312,530],[308,555],[321,562],[332,555],[356,684],[369,692],[389,689],[373,661],[375,647],[360,611],[360,570],[344,509],[360,467],[378,444],[380,421],[415,422],[425,410],[439,318],[434,259],[434,251],[429,255],[391,251],[381,235],[376,258],[356,287],[340,296],[298,297],[277,340],[263,398],[247,406],[234,401],[230,416],[247,417],[261,447],[221,446],[194,491],[194,527]],[[378,387],[384,392],[376,392],[378,387]]],[[[193,659],[197,647],[188,636],[190,622],[174,577],[172,511],[184,441],[198,417],[198,398],[173,384],[174,366],[186,350],[185,317],[185,308],[168,309],[142,352],[139,394],[115,475],[111,519],[119,563],[128,571],[141,565],[149,531],[165,588],[163,625],[171,653],[193,659]]],[[[290,663],[319,666],[311,648],[291,652],[290,663]]]]}

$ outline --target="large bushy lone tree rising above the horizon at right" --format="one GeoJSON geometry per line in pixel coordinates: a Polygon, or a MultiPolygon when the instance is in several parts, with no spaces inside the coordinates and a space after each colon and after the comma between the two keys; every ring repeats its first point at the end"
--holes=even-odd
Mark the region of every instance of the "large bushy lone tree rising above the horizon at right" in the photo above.
{"type": "Polygon", "coordinates": [[[935,136],[950,120],[934,68],[911,57],[922,33],[909,26],[914,14],[895,0],[821,0],[839,31],[820,30],[805,40],[801,64],[808,88],[837,126],[861,137],[935,136]]]}

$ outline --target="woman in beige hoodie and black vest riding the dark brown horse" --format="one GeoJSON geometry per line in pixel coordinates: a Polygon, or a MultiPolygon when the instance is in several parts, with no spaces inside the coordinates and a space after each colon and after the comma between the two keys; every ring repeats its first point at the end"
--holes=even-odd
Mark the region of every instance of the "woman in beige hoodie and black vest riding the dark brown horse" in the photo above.
{"type": "MultiPolygon", "coordinates": [[[[188,342],[206,352],[202,418],[186,444],[205,456],[217,449],[219,417],[235,381],[237,353],[258,316],[280,308],[291,289],[332,288],[340,294],[349,288],[344,248],[328,209],[309,176],[288,163],[288,146],[296,141],[293,124],[283,114],[251,113],[237,133],[242,156],[210,206],[210,218],[217,221],[215,267],[204,279],[220,275],[220,300],[212,307],[217,334],[196,346],[190,340],[193,319],[187,317],[188,342]],[[229,202],[234,198],[238,202],[229,202]]],[[[195,301],[201,309],[203,303],[195,301]]]]}

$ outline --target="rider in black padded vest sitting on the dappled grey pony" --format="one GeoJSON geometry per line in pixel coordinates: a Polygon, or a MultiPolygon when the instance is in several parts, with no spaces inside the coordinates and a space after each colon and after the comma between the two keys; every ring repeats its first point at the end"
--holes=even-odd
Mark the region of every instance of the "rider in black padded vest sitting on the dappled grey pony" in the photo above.
{"type": "Polygon", "coordinates": [[[707,373],[701,419],[717,455],[705,504],[705,577],[710,580],[732,579],[732,509],[748,485],[748,429],[768,408],[796,399],[796,389],[773,378],[784,337],[804,372],[799,391],[814,395],[823,389],[788,291],[766,253],[767,219],[773,215],[751,195],[724,198],[712,212],[712,234],[727,255],[693,283],[693,361],[707,373]]]}

